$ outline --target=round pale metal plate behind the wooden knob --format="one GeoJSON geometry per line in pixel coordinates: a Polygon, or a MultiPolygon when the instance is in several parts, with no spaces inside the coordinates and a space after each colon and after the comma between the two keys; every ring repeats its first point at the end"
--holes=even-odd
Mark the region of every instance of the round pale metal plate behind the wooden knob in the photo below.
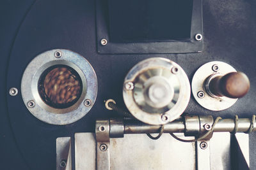
{"type": "Polygon", "coordinates": [[[236,72],[236,69],[225,62],[213,61],[201,66],[194,74],[191,83],[192,93],[196,101],[207,110],[213,111],[225,110],[236,103],[237,99],[225,96],[211,97],[204,87],[204,81],[212,74],[224,75],[230,72],[236,72]]]}

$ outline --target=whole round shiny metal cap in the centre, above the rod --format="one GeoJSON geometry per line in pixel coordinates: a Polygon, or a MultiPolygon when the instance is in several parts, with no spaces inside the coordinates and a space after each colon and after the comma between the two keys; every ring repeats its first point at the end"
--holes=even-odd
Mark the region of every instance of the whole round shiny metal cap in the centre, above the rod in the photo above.
{"type": "Polygon", "coordinates": [[[178,64],[164,58],[151,58],[139,62],[129,71],[123,96],[135,118],[146,124],[163,125],[179,118],[188,106],[190,84],[178,64]],[[132,90],[126,88],[128,82],[133,84],[132,90]]]}

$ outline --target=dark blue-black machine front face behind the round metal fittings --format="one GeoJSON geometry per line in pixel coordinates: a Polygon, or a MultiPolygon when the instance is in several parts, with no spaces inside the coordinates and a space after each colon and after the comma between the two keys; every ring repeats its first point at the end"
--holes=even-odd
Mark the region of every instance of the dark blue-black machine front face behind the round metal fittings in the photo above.
{"type": "MultiPolygon", "coordinates": [[[[227,62],[251,81],[250,92],[225,111],[209,111],[191,96],[186,112],[223,118],[252,117],[256,111],[256,1],[203,1],[204,51],[184,54],[100,55],[95,41],[93,0],[2,0],[0,3],[0,169],[56,169],[56,138],[92,132],[99,117],[115,113],[104,99],[122,101],[122,83],[132,66],[149,57],[177,62],[191,81],[196,69],[213,60],[227,62]],[[92,110],[74,124],[56,126],[36,119],[24,106],[20,80],[39,53],[67,48],[83,55],[97,74],[99,91],[92,110]],[[8,95],[10,87],[19,94],[8,95]]],[[[256,169],[255,133],[250,134],[251,169],[256,169]]]]}

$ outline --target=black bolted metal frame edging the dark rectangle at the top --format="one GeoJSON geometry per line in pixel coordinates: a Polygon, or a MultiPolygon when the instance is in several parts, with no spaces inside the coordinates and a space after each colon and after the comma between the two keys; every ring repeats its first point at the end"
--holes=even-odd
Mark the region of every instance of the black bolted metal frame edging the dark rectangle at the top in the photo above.
{"type": "Polygon", "coordinates": [[[193,0],[190,38],[186,40],[113,42],[109,38],[108,1],[96,0],[97,50],[99,53],[193,53],[202,52],[202,41],[196,41],[196,34],[203,34],[202,0],[193,0]],[[107,45],[100,40],[107,39],[107,45]]]}

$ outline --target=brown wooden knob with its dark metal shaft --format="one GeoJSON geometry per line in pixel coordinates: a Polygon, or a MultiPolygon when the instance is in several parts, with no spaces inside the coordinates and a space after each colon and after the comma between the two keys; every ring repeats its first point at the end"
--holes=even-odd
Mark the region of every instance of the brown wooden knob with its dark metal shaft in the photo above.
{"type": "Polygon", "coordinates": [[[209,82],[209,90],[215,96],[240,98],[250,89],[250,81],[242,72],[232,72],[224,76],[217,76],[209,82]]]}

